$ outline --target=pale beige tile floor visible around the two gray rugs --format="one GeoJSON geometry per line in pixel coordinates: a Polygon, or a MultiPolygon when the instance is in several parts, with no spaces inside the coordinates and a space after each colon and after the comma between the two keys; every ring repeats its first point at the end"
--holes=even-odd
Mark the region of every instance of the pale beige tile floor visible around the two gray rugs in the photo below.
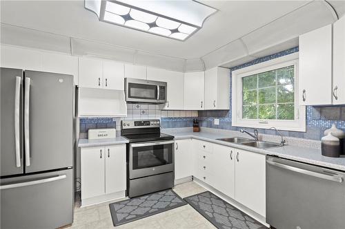
{"type": "MultiPolygon", "coordinates": [[[[182,198],[205,191],[204,188],[196,184],[195,182],[186,182],[179,184],[173,188],[173,190],[182,198]]],[[[75,219],[70,229],[108,229],[114,228],[112,225],[112,219],[110,216],[110,210],[108,204],[114,201],[88,206],[80,208],[80,202],[75,204],[75,219]]],[[[198,228],[198,229],[210,229],[215,228],[207,219],[199,214],[190,205],[181,206],[166,212],[152,215],[144,219],[139,219],[131,223],[126,223],[115,228],[119,229],[177,229],[177,228],[198,228]]]]}

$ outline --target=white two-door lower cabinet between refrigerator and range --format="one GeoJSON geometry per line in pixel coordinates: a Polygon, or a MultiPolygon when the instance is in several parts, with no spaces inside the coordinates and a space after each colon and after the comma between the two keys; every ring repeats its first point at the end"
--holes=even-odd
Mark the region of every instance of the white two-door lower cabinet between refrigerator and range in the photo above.
{"type": "Polygon", "coordinates": [[[107,198],[124,197],[125,191],[125,144],[81,149],[82,205],[96,204],[97,201],[106,201],[107,198]],[[123,195],[110,195],[119,192],[123,195]]]}

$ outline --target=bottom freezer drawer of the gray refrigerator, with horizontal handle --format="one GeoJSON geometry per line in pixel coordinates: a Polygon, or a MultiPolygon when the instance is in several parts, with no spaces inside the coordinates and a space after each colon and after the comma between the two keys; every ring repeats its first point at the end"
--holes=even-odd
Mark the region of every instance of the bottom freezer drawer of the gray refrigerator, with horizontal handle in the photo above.
{"type": "Polygon", "coordinates": [[[1,179],[1,229],[59,228],[72,223],[72,171],[1,179]]]}

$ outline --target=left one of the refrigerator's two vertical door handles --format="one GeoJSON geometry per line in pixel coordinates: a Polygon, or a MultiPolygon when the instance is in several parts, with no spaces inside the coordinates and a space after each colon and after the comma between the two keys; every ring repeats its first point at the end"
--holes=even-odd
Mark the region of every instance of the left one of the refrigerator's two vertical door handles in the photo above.
{"type": "Polygon", "coordinates": [[[21,166],[21,143],[20,143],[20,99],[21,99],[21,77],[16,76],[16,90],[14,94],[14,139],[16,146],[16,166],[21,166]]]}

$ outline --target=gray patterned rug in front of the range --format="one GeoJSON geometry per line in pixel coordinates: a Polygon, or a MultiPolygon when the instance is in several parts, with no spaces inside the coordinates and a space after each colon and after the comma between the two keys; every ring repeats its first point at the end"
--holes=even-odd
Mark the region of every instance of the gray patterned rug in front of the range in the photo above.
{"type": "Polygon", "coordinates": [[[112,223],[119,226],[137,219],[186,205],[173,190],[168,189],[141,197],[109,204],[112,223]]]}

